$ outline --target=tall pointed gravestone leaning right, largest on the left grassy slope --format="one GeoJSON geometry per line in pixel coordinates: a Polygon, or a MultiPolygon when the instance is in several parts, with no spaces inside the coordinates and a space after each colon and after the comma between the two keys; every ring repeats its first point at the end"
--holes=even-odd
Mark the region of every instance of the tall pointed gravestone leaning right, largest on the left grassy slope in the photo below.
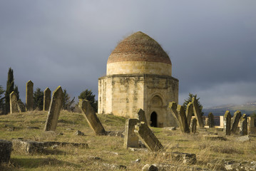
{"type": "Polygon", "coordinates": [[[63,100],[63,91],[61,86],[58,86],[56,90],[53,91],[53,96],[51,97],[51,104],[48,111],[46,125],[44,130],[56,130],[58,123],[58,115],[61,112],[63,100]]]}

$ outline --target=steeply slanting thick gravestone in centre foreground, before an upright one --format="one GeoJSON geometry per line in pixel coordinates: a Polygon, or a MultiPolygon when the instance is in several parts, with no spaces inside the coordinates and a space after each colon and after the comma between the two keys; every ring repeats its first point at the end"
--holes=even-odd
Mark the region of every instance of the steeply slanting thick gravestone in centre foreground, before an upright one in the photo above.
{"type": "Polygon", "coordinates": [[[158,138],[155,137],[150,128],[148,128],[147,123],[137,123],[137,125],[135,125],[134,133],[138,136],[138,138],[140,138],[148,150],[156,152],[163,149],[163,145],[160,143],[158,138]]]}

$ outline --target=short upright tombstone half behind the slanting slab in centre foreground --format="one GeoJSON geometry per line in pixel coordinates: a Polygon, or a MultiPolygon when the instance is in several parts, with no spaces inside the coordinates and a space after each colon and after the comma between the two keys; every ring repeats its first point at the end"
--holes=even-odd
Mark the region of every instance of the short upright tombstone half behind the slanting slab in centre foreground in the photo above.
{"type": "Polygon", "coordinates": [[[127,119],[123,147],[139,147],[138,136],[134,133],[135,125],[140,123],[138,119],[127,119]]]}

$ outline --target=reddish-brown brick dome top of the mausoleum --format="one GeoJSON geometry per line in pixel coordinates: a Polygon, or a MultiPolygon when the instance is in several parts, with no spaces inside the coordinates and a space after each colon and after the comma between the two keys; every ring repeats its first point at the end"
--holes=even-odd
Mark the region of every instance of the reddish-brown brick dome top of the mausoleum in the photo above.
{"type": "Polygon", "coordinates": [[[148,61],[171,65],[168,54],[150,36],[138,31],[123,39],[108,57],[108,63],[148,61]]]}

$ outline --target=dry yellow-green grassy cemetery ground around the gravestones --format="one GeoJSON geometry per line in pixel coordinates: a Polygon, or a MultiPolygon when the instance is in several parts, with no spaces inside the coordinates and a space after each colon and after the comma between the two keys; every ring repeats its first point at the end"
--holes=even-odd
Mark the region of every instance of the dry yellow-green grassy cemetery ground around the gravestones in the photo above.
{"type": "MultiPolygon", "coordinates": [[[[43,131],[47,112],[29,111],[0,115],[0,139],[33,140],[39,142],[58,141],[87,143],[88,147],[65,145],[48,147],[41,153],[25,154],[13,150],[9,163],[3,163],[0,170],[142,170],[146,164],[172,164],[175,170],[209,168],[224,170],[224,162],[256,161],[256,138],[240,142],[238,135],[226,136],[226,140],[205,140],[204,135],[221,135],[222,130],[198,130],[195,134],[181,133],[179,129],[150,128],[165,147],[165,152],[129,150],[123,148],[122,136],[95,135],[82,113],[62,110],[55,132],[43,131]],[[80,130],[84,135],[77,135],[80,130]],[[169,152],[194,153],[195,165],[173,162],[169,152]],[[165,153],[165,155],[163,155],[165,153]]],[[[114,115],[98,115],[106,131],[124,131],[126,118],[114,115]]],[[[199,129],[199,128],[198,128],[199,129]]]]}

